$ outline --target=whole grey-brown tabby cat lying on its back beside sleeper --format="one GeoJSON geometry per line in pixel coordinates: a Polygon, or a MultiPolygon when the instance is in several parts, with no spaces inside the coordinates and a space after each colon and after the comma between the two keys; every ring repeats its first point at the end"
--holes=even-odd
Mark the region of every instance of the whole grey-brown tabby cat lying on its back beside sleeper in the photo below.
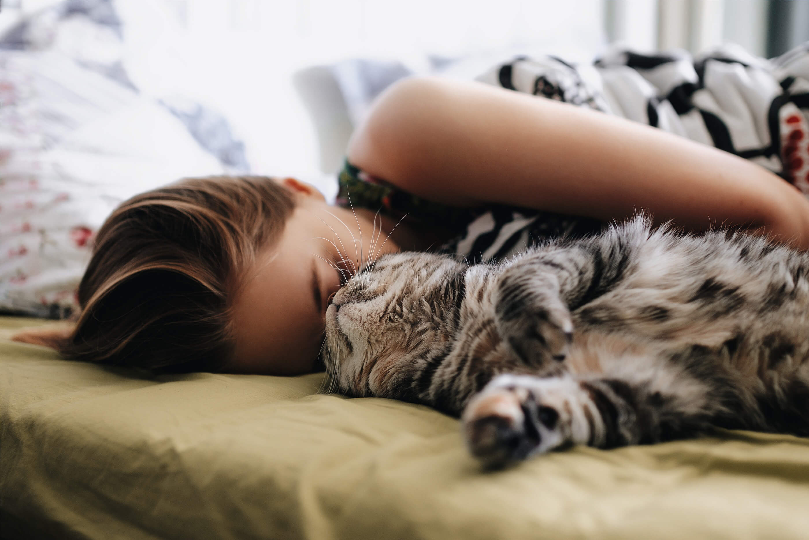
{"type": "Polygon", "coordinates": [[[503,264],[385,255],[332,297],[334,390],[461,416],[502,466],[713,427],[809,436],[809,254],[645,217],[503,264]]]}

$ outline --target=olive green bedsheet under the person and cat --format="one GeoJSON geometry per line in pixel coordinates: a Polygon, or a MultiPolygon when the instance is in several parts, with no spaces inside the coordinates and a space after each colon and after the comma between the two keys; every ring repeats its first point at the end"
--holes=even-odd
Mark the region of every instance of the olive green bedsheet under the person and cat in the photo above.
{"type": "Polygon", "coordinates": [[[481,471],[447,416],[322,375],[136,378],[7,340],[3,538],[809,538],[809,440],[577,448],[481,471]]]}

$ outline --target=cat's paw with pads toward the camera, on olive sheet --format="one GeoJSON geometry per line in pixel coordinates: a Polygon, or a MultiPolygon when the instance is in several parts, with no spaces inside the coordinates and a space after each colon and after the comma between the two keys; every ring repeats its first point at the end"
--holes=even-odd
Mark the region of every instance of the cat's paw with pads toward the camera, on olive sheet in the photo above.
{"type": "Polygon", "coordinates": [[[573,429],[580,393],[567,378],[494,378],[464,409],[469,450],[485,466],[501,467],[581,442],[573,429]]]}

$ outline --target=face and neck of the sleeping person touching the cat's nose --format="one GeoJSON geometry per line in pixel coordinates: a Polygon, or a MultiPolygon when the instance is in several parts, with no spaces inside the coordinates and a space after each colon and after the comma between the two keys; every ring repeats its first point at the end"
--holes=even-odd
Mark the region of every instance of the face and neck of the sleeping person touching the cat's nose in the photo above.
{"type": "MultiPolygon", "coordinates": [[[[235,298],[236,348],[228,371],[311,373],[323,342],[328,297],[342,283],[337,268],[358,268],[362,255],[371,252],[376,238],[367,219],[327,205],[319,192],[298,196],[281,238],[260,254],[235,298]]],[[[398,247],[388,241],[382,252],[392,251],[398,247]]]]}

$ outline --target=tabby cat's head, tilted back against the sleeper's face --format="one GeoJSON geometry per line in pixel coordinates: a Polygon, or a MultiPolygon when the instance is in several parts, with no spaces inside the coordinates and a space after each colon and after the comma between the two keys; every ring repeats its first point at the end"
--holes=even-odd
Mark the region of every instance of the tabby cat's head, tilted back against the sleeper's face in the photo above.
{"type": "Polygon", "coordinates": [[[392,395],[426,352],[451,346],[467,266],[446,255],[383,255],[326,310],[324,364],[344,394],[392,395]]]}

